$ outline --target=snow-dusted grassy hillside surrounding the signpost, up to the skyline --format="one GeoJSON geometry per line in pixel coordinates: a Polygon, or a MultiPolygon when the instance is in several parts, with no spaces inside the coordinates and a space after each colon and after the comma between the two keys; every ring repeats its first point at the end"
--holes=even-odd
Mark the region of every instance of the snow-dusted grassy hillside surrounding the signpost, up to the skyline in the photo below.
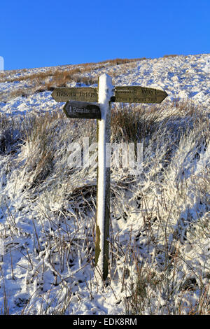
{"type": "Polygon", "coordinates": [[[106,72],[113,85],[169,95],[153,113],[138,110],[141,129],[148,125],[141,176],[132,181],[122,168],[111,175],[106,286],[92,264],[96,169],[67,165],[71,141],[95,141],[94,120],[67,120],[52,91],[33,93],[31,80],[20,80],[55,70],[0,74],[0,312],[128,314],[136,293],[139,314],[208,314],[210,55],[93,65],[83,73],[106,72]],[[28,95],[15,97],[20,90],[28,95]]]}

